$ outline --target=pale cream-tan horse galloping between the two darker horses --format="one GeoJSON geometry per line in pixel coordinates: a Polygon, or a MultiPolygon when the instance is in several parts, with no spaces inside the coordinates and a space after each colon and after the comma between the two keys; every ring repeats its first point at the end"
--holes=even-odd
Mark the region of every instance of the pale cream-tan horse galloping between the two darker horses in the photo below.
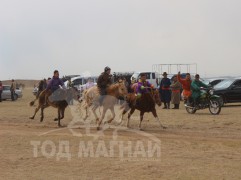
{"type": "Polygon", "coordinates": [[[107,121],[111,123],[115,118],[114,106],[117,103],[119,97],[124,97],[128,94],[127,88],[125,86],[124,81],[117,82],[115,84],[110,85],[107,88],[107,95],[103,97],[102,104],[99,103],[100,93],[97,86],[91,87],[86,90],[83,94],[82,103],[84,104],[84,109],[86,110],[86,116],[84,119],[88,118],[89,107],[94,105],[92,108],[93,114],[96,119],[96,123],[98,124],[97,130],[100,130],[100,125],[102,120],[105,117],[106,111],[109,109],[112,113],[112,117],[107,121]],[[100,106],[103,106],[103,111],[101,113],[101,117],[98,118],[96,114],[96,109],[100,106]]]}

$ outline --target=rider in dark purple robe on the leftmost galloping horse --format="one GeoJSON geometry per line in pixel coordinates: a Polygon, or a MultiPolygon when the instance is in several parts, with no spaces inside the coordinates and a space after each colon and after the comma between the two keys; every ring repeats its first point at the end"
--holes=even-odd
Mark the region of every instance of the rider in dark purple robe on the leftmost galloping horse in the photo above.
{"type": "Polygon", "coordinates": [[[49,80],[46,88],[46,94],[45,94],[45,105],[47,105],[47,99],[48,97],[57,89],[61,87],[64,87],[64,82],[59,78],[59,71],[55,70],[54,75],[51,80],[49,80]]]}

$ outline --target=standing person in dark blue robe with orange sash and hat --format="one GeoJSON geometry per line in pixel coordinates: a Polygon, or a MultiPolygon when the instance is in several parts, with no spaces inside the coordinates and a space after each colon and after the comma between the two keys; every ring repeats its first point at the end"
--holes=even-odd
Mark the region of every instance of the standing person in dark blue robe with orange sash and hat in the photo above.
{"type": "Polygon", "coordinates": [[[171,90],[170,90],[170,85],[171,85],[171,80],[167,78],[167,73],[164,72],[163,78],[160,83],[160,94],[161,94],[161,100],[164,103],[163,109],[170,109],[170,101],[171,101],[171,90]]]}

